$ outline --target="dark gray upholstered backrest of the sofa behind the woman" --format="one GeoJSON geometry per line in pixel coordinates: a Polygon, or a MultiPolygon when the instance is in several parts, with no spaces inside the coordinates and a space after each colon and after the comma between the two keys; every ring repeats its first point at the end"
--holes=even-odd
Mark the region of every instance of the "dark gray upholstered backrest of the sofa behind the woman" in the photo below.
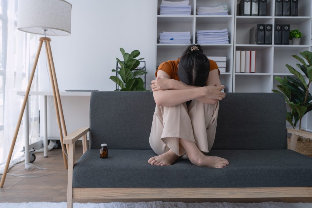
{"type": "MultiPolygon", "coordinates": [[[[280,93],[226,93],[212,149],[287,149],[286,105],[280,93]]],[[[151,149],[153,92],[92,92],[90,149],[151,149]]]]}

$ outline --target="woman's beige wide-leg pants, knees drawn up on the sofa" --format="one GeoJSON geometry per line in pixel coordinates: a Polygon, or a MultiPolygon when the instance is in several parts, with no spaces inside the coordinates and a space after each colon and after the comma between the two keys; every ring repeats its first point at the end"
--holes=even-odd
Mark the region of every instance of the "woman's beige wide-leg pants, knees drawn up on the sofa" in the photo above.
{"type": "Polygon", "coordinates": [[[171,149],[175,154],[186,159],[188,155],[179,145],[179,138],[196,143],[196,146],[204,154],[208,153],[213,145],[219,102],[206,104],[192,100],[187,107],[186,103],[166,107],[155,108],[149,144],[157,155],[161,155],[171,149]]]}

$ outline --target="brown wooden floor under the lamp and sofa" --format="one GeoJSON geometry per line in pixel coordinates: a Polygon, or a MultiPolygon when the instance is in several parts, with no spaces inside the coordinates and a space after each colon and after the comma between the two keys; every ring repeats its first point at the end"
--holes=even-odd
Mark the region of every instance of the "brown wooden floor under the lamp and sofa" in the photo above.
{"type": "MultiPolygon", "coordinates": [[[[76,146],[75,161],[82,155],[82,146],[76,146]]],[[[30,176],[41,176],[34,178],[21,178],[7,175],[3,188],[0,188],[0,202],[29,202],[29,201],[66,201],[67,171],[64,169],[63,158],[60,149],[53,149],[44,158],[43,153],[36,153],[36,161],[33,163],[38,167],[47,168],[30,176]],[[49,176],[43,176],[51,173],[49,176]]],[[[9,173],[29,174],[38,171],[25,171],[24,162],[20,166],[14,166],[9,173]]],[[[218,199],[88,199],[75,200],[74,202],[138,202],[138,201],[183,201],[183,202],[312,202],[310,198],[218,198],[218,199]]]]}

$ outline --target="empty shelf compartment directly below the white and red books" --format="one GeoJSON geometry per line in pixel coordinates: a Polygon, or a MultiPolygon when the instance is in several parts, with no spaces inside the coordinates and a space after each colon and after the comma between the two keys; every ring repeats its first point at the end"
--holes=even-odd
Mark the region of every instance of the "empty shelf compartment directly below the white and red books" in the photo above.
{"type": "Polygon", "coordinates": [[[235,92],[271,92],[272,75],[235,76],[235,92]]]}

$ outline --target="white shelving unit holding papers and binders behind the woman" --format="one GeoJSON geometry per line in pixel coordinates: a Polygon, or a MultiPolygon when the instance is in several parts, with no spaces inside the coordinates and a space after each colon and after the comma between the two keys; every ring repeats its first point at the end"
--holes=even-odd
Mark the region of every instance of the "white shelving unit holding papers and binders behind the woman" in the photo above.
{"type": "MultiPolygon", "coordinates": [[[[177,1],[177,0],[170,0],[177,1]]],[[[191,43],[196,43],[197,30],[227,28],[229,44],[201,44],[207,56],[227,56],[227,71],[220,74],[225,92],[272,92],[278,84],[274,77],[294,76],[286,64],[296,67],[299,63],[291,55],[312,50],[312,1],[300,0],[298,17],[275,17],[275,0],[267,0],[268,16],[238,16],[237,4],[240,0],[190,0],[191,15],[159,15],[161,0],[157,0],[157,42],[156,63],[176,60],[185,49],[185,44],[159,44],[159,33],[191,32],[191,43]],[[215,6],[226,3],[229,15],[196,15],[196,5],[215,6]],[[290,30],[298,28],[303,33],[300,45],[252,45],[249,44],[249,31],[256,24],[290,24],[290,30]],[[256,73],[235,73],[235,51],[256,51],[256,73]]],[[[291,41],[290,41],[291,44],[291,41]]],[[[307,80],[307,77],[304,76],[307,80]]],[[[312,92],[312,86],[310,86],[312,92]]],[[[287,123],[288,124],[288,123],[287,123]]],[[[297,127],[299,123],[297,124],[297,127]]],[[[301,128],[312,131],[312,112],[305,115],[301,128]]]]}

